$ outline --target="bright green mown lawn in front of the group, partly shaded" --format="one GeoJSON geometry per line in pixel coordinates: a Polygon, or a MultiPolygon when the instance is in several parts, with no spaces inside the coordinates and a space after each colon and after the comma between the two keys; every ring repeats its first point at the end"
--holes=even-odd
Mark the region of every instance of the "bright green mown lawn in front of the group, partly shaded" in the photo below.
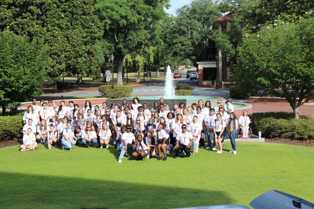
{"type": "Polygon", "coordinates": [[[0,152],[0,208],[176,208],[243,204],[269,190],[314,202],[313,147],[238,142],[237,155],[200,149],[167,161],[124,158],[109,149],[0,152]]]}

